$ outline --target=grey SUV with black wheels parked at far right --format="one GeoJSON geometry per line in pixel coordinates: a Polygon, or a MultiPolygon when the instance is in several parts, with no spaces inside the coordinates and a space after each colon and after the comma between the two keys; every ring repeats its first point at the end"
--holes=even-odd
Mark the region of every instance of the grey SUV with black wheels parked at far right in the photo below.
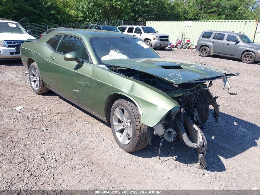
{"type": "Polygon", "coordinates": [[[240,33],[204,31],[198,39],[197,51],[202,57],[213,54],[241,59],[248,64],[260,62],[260,45],[240,33]]]}

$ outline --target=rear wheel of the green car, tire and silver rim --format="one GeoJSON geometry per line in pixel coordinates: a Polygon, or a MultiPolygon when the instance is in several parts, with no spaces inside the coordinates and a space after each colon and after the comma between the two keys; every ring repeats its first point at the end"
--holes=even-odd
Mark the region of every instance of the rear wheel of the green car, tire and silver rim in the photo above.
{"type": "Polygon", "coordinates": [[[42,80],[41,73],[35,62],[31,63],[29,68],[29,81],[32,90],[37,94],[47,93],[49,89],[46,87],[42,80]]]}

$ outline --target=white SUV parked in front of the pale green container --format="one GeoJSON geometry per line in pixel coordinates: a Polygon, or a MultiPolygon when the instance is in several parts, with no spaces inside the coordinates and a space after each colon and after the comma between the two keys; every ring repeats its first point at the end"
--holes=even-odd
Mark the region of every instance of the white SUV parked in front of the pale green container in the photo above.
{"type": "Polygon", "coordinates": [[[150,26],[118,26],[118,29],[124,34],[142,39],[150,47],[165,49],[170,43],[169,35],[160,34],[150,26]]]}

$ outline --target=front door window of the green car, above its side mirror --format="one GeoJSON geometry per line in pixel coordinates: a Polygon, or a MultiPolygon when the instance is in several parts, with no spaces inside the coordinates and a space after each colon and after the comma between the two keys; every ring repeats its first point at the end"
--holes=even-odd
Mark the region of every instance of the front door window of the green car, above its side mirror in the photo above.
{"type": "Polygon", "coordinates": [[[78,54],[79,59],[89,60],[84,44],[76,37],[64,35],[56,51],[63,54],[75,52],[78,54]]]}

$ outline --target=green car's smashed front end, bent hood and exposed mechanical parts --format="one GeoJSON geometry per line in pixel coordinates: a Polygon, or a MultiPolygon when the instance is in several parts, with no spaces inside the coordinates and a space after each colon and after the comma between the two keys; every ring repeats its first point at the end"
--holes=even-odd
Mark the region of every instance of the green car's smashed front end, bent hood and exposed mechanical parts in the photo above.
{"type": "Polygon", "coordinates": [[[198,162],[202,168],[206,169],[207,141],[201,128],[202,124],[208,120],[209,105],[214,108],[213,117],[216,122],[219,115],[219,105],[216,101],[218,97],[213,97],[209,87],[213,85],[213,80],[222,79],[224,89],[229,89],[231,87],[227,77],[238,76],[239,73],[197,63],[195,65],[192,63],[174,63],[174,65],[170,63],[168,66],[163,64],[164,66],[158,66],[158,63],[153,63],[149,67],[146,67],[146,64],[144,66],[118,66],[116,64],[108,67],[118,74],[163,91],[177,103],[179,109],[170,110],[155,126],[150,127],[150,130],[153,131],[154,135],[169,142],[174,142],[177,137],[181,138],[187,146],[196,149],[198,162]],[[189,139],[189,136],[192,140],[189,139]]]}

